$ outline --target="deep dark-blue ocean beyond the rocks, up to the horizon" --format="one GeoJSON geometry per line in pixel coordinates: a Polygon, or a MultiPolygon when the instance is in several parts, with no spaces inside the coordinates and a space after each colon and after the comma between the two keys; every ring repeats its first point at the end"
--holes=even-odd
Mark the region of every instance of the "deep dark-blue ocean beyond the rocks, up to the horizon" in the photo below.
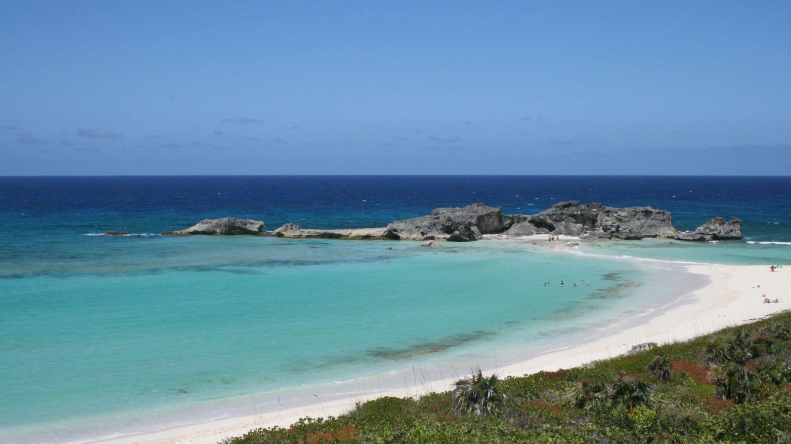
{"type": "Polygon", "coordinates": [[[484,202],[537,213],[558,201],[652,205],[677,228],[738,216],[747,237],[791,240],[791,177],[134,176],[0,177],[3,242],[92,231],[156,233],[204,217],[305,228],[378,227],[438,206],[484,202]]]}

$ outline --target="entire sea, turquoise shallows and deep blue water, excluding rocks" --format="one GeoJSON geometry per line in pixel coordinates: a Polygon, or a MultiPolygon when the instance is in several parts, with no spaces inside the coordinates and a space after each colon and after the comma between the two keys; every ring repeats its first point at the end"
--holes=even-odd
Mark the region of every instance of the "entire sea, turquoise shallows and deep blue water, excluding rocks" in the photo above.
{"type": "Polygon", "coordinates": [[[699,284],[623,258],[791,264],[791,178],[2,177],[0,228],[0,442],[62,442],[581,341],[699,284]],[[206,217],[362,228],[439,206],[529,214],[569,199],[652,205],[679,229],[736,216],[745,239],[601,242],[579,246],[585,255],[494,241],[158,235],[206,217]],[[543,285],[560,280],[590,284],[543,285]]]}

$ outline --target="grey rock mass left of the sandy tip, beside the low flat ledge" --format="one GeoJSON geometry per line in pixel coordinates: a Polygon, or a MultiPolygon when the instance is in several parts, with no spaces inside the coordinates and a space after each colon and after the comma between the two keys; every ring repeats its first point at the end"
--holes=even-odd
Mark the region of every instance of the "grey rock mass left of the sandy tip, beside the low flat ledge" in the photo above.
{"type": "Polygon", "coordinates": [[[464,207],[438,208],[429,216],[395,220],[387,227],[388,239],[446,239],[451,242],[478,240],[485,234],[501,233],[516,216],[503,216],[501,208],[476,203],[464,207]]]}

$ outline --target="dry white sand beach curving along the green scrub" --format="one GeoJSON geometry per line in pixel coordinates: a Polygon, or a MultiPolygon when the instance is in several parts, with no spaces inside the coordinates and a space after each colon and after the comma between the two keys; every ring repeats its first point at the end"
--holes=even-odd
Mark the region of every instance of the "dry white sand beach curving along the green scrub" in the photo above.
{"type": "MultiPolygon", "coordinates": [[[[547,238],[544,235],[538,235],[535,240],[538,239],[543,239],[546,242],[547,238]]],[[[534,239],[523,237],[521,240],[534,239]]],[[[576,239],[570,236],[568,239],[561,239],[561,241],[567,240],[576,239]]],[[[536,371],[555,371],[559,368],[577,367],[593,360],[618,356],[628,352],[636,344],[645,342],[667,344],[687,341],[718,329],[752,322],[791,308],[791,301],[783,298],[779,303],[761,302],[762,294],[766,293],[770,299],[778,298],[785,295],[785,288],[791,286],[791,274],[785,273],[782,269],[770,273],[768,265],[702,264],[685,264],[681,266],[681,269],[681,273],[691,273],[708,279],[708,284],[689,294],[679,295],[675,302],[669,303],[668,307],[646,318],[645,322],[615,330],[611,334],[596,337],[583,344],[544,352],[520,363],[495,369],[487,368],[486,372],[497,371],[502,378],[505,378],[506,376],[531,374],[536,371]],[[755,288],[756,284],[760,284],[761,287],[755,288]]],[[[461,373],[466,374],[466,369],[461,373]]],[[[451,389],[452,382],[459,376],[437,380],[418,380],[415,376],[414,382],[404,378],[403,384],[400,386],[385,385],[382,388],[380,384],[378,389],[365,387],[362,383],[356,390],[335,393],[335,395],[342,396],[332,401],[321,401],[321,398],[314,394],[313,396],[319,402],[311,399],[307,403],[289,408],[273,404],[268,411],[255,412],[253,415],[233,416],[161,431],[105,438],[99,442],[218,442],[224,438],[244,435],[258,427],[288,427],[305,416],[314,418],[339,416],[353,409],[356,403],[377,397],[419,397],[431,392],[447,391],[451,389]]],[[[361,379],[361,381],[363,380],[365,378],[361,379]]],[[[351,386],[354,386],[354,380],[351,386]]],[[[305,397],[303,401],[305,399],[310,398],[305,397]]]]}

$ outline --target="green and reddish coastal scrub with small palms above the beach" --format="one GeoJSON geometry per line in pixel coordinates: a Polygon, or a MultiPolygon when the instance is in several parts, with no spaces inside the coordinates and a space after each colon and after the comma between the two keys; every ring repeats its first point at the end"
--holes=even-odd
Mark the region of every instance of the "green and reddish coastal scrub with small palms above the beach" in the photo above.
{"type": "Polygon", "coordinates": [[[224,444],[269,442],[791,442],[791,312],[571,369],[475,369],[445,393],[224,444]]]}

